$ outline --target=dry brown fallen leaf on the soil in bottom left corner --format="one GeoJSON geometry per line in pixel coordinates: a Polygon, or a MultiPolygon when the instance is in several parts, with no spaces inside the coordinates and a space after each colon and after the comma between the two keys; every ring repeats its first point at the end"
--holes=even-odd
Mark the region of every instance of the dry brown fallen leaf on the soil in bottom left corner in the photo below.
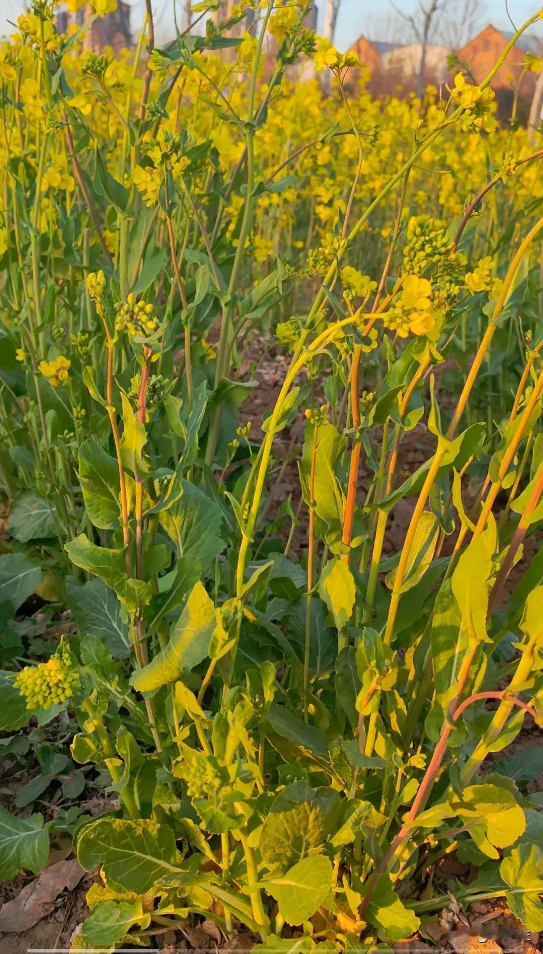
{"type": "Polygon", "coordinates": [[[56,861],[42,871],[39,878],[26,884],[22,891],[0,908],[0,932],[26,931],[46,915],[51,914],[54,902],[62,891],[73,891],[85,872],[79,862],[56,861]]]}

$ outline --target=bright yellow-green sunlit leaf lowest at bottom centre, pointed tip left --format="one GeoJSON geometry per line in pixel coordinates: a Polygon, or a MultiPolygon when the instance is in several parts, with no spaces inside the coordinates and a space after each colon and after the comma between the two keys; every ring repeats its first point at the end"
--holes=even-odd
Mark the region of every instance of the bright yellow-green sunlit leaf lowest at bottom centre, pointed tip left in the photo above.
{"type": "Polygon", "coordinates": [[[302,924],[315,914],[332,886],[332,865],[324,855],[298,861],[281,878],[266,881],[287,924],[302,924]]]}

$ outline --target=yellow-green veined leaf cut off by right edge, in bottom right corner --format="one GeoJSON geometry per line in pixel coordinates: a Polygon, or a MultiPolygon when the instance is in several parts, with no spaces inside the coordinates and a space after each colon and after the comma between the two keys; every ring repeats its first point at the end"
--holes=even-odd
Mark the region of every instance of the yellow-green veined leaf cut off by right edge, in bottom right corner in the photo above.
{"type": "Polygon", "coordinates": [[[543,850],[521,844],[500,864],[500,875],[511,888],[506,898],[512,913],[529,931],[543,931],[543,850]]]}

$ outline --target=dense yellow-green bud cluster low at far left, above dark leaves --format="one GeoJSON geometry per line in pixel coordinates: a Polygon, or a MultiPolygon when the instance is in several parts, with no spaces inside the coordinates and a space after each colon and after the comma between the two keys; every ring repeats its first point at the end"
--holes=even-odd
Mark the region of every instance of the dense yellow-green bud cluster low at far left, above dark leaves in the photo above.
{"type": "Polygon", "coordinates": [[[78,680],[72,653],[60,646],[47,662],[25,666],[15,676],[13,683],[27,700],[27,709],[49,709],[72,698],[78,680]]]}

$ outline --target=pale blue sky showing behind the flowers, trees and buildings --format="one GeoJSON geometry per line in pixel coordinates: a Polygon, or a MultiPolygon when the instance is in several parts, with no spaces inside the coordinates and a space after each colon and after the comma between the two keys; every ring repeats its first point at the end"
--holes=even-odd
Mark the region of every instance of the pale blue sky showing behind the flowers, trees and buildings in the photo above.
{"type": "MultiPolygon", "coordinates": [[[[144,0],[130,0],[133,8],[133,23],[137,28],[142,19],[144,0]]],[[[325,0],[316,0],[321,11],[324,10],[325,0]]],[[[541,0],[509,0],[509,10],[512,20],[519,26],[524,20],[540,9],[541,0]]],[[[9,21],[14,21],[17,14],[25,9],[25,0],[0,0],[0,33],[10,31],[9,21]]],[[[178,0],[178,10],[184,6],[178,0]]],[[[416,0],[397,0],[396,6],[407,13],[417,9],[416,0]]],[[[447,43],[449,23],[460,16],[464,0],[450,0],[447,10],[443,14],[438,26],[439,42],[447,43]]],[[[498,29],[511,30],[506,13],[505,0],[480,0],[480,15],[477,28],[482,29],[487,23],[493,23],[498,29]]],[[[173,24],[173,0],[155,0],[154,9],[157,19],[157,38],[164,39],[170,35],[173,24]]],[[[394,13],[388,0],[341,0],[340,15],[336,33],[336,45],[344,50],[353,43],[361,33],[373,39],[406,40],[407,25],[394,13]]]]}

